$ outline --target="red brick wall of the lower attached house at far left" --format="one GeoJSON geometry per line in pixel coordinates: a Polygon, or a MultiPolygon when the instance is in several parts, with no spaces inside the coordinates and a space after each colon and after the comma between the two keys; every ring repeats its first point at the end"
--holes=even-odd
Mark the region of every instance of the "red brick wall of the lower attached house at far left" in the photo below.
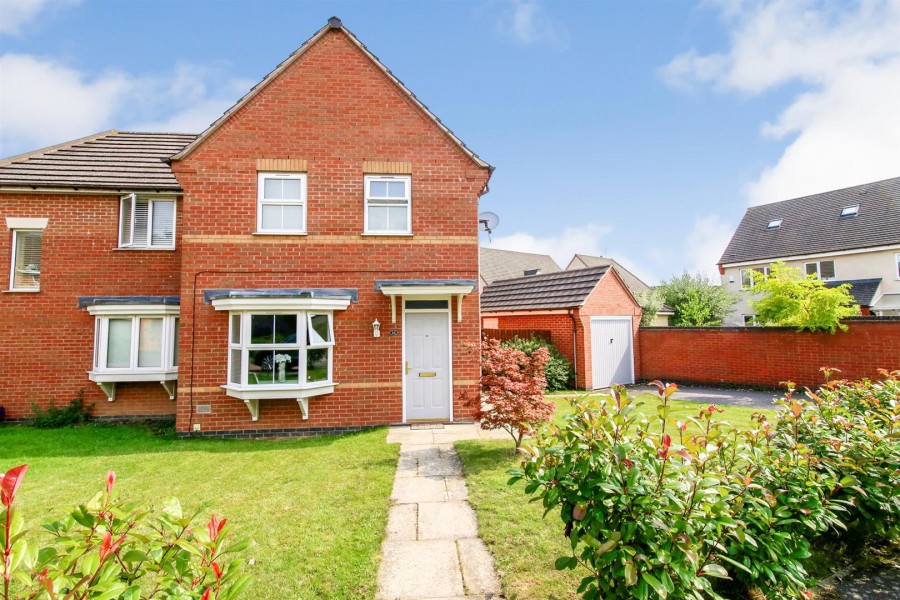
{"type": "MultiPolygon", "coordinates": [[[[180,234],[181,203],[176,232],[180,234]]],[[[49,219],[43,233],[39,292],[0,293],[0,406],[9,419],[68,403],[78,390],[94,414],[175,414],[158,383],[118,384],[109,402],[87,378],[93,362],[94,318],[77,307],[79,296],[178,295],[180,235],[176,250],[118,250],[118,195],[0,194],[0,217],[49,219]]],[[[12,232],[0,220],[0,271],[8,289],[12,232]]]]}

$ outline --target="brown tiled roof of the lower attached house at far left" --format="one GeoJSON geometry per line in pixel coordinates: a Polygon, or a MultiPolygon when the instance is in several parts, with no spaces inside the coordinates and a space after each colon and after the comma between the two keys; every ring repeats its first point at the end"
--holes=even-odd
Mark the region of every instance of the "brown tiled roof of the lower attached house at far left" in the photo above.
{"type": "Polygon", "coordinates": [[[0,160],[0,187],[180,192],[164,161],[196,137],[111,129],[0,160]]]}

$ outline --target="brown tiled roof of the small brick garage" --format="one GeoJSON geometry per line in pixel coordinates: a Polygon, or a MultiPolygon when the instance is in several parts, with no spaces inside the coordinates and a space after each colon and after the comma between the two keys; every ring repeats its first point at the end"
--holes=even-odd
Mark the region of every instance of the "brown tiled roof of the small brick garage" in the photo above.
{"type": "Polygon", "coordinates": [[[497,280],[481,294],[481,310],[541,310],[575,308],[584,304],[609,271],[591,267],[497,280]]]}

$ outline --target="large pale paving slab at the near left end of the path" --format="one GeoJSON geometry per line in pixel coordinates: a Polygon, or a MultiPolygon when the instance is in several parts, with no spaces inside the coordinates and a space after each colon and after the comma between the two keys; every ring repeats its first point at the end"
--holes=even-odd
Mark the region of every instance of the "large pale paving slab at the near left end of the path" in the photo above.
{"type": "Polygon", "coordinates": [[[385,540],[378,573],[378,600],[464,595],[455,542],[385,540]]]}

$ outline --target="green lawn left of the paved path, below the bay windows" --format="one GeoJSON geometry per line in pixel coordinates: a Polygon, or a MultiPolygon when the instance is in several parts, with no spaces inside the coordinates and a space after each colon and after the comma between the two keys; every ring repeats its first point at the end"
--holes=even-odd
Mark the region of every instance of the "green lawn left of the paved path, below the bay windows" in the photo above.
{"type": "Polygon", "coordinates": [[[244,597],[254,600],[374,596],[397,453],[383,429],[262,442],[0,427],[0,472],[30,465],[18,496],[30,527],[88,500],[110,469],[129,500],[159,507],[176,496],[190,510],[212,499],[234,535],[253,540],[244,597]]]}

